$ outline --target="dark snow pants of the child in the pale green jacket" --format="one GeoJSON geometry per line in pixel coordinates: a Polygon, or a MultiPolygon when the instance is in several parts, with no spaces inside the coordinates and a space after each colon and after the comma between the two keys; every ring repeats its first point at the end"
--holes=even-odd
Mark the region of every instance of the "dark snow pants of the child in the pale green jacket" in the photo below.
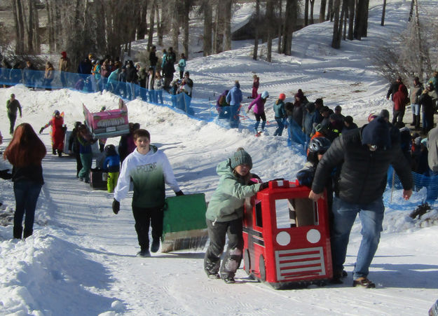
{"type": "Polygon", "coordinates": [[[220,267],[221,278],[234,277],[235,271],[242,261],[243,236],[242,219],[233,221],[217,221],[214,223],[207,221],[208,236],[210,245],[204,257],[204,269],[207,275],[219,272],[221,254],[224,252],[225,237],[228,236],[228,246],[224,260],[220,267]]]}

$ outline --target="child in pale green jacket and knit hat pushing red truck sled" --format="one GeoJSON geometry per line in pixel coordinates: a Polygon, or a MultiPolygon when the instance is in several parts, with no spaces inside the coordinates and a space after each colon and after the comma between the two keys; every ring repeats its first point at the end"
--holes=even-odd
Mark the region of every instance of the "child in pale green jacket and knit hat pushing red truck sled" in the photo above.
{"type": "Polygon", "coordinates": [[[217,165],[219,185],[205,213],[210,245],[205,252],[204,270],[210,279],[222,279],[228,284],[235,283],[235,271],[242,261],[242,217],[245,198],[252,197],[268,186],[268,182],[251,184],[251,169],[252,158],[242,148],[235,151],[231,158],[217,165]],[[226,237],[228,245],[221,263],[226,237]]]}

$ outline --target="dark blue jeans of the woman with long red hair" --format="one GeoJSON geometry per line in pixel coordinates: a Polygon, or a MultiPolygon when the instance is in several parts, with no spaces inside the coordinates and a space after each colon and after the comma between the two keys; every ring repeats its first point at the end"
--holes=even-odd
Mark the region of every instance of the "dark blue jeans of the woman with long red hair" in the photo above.
{"type": "Polygon", "coordinates": [[[35,207],[41,191],[41,184],[35,181],[23,180],[14,182],[15,214],[14,227],[21,228],[25,217],[25,231],[32,235],[34,228],[35,207]]]}

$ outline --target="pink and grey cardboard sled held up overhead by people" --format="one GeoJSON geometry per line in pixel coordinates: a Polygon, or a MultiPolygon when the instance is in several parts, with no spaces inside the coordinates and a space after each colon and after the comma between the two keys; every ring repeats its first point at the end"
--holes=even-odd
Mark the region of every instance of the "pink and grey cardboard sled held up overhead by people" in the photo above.
{"type": "Polygon", "coordinates": [[[118,109],[96,113],[88,111],[83,104],[83,115],[93,138],[116,137],[129,133],[128,108],[122,99],[118,100],[118,109]]]}

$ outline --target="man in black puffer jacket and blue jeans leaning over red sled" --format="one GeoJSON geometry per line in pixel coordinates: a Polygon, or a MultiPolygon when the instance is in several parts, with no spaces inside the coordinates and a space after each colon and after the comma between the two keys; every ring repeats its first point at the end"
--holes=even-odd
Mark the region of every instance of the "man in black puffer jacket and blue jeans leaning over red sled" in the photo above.
{"type": "Polygon", "coordinates": [[[318,200],[331,170],[341,165],[333,200],[331,256],[334,282],[341,283],[348,238],[357,214],[362,223],[362,242],[353,270],[353,287],[375,287],[367,279],[369,266],[380,240],[385,207],[383,191],[386,174],[392,165],[403,185],[403,198],[412,194],[412,175],[403,157],[399,137],[391,137],[388,123],[378,116],[368,125],[336,138],[318,164],[309,198],[318,200]]]}

